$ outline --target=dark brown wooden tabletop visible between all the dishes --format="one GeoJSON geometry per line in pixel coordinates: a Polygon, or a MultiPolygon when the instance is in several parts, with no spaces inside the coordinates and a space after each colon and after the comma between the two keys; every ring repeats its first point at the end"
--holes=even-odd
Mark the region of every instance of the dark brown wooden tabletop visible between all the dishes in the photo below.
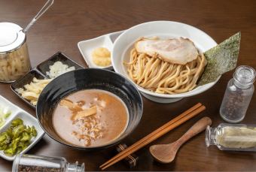
{"type": "MultiPolygon", "coordinates": [[[[0,0],[0,22],[17,23],[24,27],[44,4],[44,0],[0,0]]],[[[128,29],[139,23],[154,20],[171,20],[196,26],[218,43],[236,32],[242,32],[239,65],[256,67],[256,2],[254,0],[56,0],[52,8],[29,30],[27,42],[32,67],[43,62],[57,51],[62,51],[86,67],[79,53],[78,41],[96,38],[110,32],[128,29]]],[[[154,143],[170,143],[184,134],[202,116],[209,116],[216,126],[224,122],[219,115],[221,100],[227,81],[233,71],[208,91],[184,98],[174,104],[157,104],[143,98],[142,120],[130,137],[123,140],[131,144],[144,137],[163,123],[177,116],[197,102],[206,105],[205,112],[190,119],[154,143]]],[[[35,116],[35,110],[17,98],[9,84],[0,83],[0,95],[35,116]]],[[[256,96],[254,95],[243,123],[256,123],[256,96]]],[[[224,152],[215,146],[205,146],[201,133],[189,140],[178,152],[171,164],[158,164],[151,157],[148,146],[136,152],[138,165],[131,170],[256,170],[256,154],[253,152],[224,152]]],[[[153,143],[151,143],[153,144],[153,143]]],[[[99,170],[99,164],[113,155],[114,148],[97,152],[71,149],[43,137],[28,153],[66,157],[68,161],[84,162],[86,170],[99,170]]],[[[11,161],[0,158],[0,171],[11,170],[11,161]]],[[[130,170],[123,162],[108,170],[130,170]]]]}

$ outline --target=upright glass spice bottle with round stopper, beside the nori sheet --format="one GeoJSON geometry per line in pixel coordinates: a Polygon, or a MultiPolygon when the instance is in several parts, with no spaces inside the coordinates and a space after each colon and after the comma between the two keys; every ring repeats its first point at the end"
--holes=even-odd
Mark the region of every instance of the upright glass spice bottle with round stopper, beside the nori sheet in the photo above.
{"type": "Polygon", "coordinates": [[[227,83],[227,89],[221,103],[222,119],[230,123],[242,121],[254,92],[254,68],[241,65],[236,68],[233,78],[227,83]]]}

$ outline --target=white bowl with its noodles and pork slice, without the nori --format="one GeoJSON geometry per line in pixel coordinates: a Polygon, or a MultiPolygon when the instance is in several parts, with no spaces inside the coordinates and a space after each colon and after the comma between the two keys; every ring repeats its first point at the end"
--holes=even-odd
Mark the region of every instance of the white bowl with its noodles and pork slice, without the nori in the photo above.
{"type": "Polygon", "coordinates": [[[184,23],[154,21],[133,26],[114,42],[111,62],[152,101],[171,103],[200,94],[217,83],[197,86],[216,42],[184,23]]]}

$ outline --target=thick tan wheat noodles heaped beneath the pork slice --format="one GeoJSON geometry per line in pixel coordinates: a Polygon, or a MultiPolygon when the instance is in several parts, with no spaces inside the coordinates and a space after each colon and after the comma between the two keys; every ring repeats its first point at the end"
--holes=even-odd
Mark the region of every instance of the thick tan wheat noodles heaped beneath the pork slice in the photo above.
{"type": "Polygon", "coordinates": [[[164,62],[155,56],[137,53],[133,48],[130,62],[125,62],[130,78],[142,88],[163,94],[188,92],[197,86],[197,80],[206,66],[201,54],[186,65],[164,62]]]}

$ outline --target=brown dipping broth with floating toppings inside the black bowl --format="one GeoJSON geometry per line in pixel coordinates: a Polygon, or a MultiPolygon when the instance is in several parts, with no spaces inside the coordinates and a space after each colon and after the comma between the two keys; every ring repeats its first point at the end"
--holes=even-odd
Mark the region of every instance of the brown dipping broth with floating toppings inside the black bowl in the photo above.
{"type": "Polygon", "coordinates": [[[59,137],[77,146],[102,146],[120,137],[128,124],[128,110],[111,92],[85,89],[57,104],[53,127],[59,137]]]}

